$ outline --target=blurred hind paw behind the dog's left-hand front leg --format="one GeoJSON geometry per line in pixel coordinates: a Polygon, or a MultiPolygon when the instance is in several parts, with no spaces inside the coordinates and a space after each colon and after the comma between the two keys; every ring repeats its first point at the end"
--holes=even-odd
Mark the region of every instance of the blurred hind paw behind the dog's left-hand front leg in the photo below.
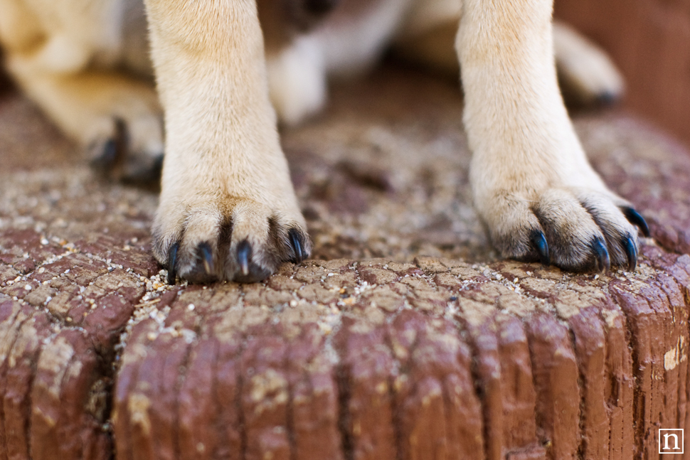
{"type": "Polygon", "coordinates": [[[88,146],[91,167],[113,181],[134,185],[155,183],[163,166],[162,119],[104,119],[88,146]]]}

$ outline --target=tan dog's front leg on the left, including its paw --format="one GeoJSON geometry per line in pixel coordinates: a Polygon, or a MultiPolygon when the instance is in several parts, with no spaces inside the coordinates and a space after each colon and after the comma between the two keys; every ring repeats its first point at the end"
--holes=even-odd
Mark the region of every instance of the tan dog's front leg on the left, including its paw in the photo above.
{"type": "Polygon", "coordinates": [[[171,281],[191,282],[253,282],[303,260],[255,1],[146,6],[166,128],[154,255],[171,281]]]}

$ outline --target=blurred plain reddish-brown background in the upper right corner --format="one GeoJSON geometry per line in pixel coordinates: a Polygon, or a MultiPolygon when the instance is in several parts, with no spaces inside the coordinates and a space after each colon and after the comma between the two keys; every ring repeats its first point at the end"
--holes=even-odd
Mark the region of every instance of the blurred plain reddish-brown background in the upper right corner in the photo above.
{"type": "Polygon", "coordinates": [[[622,107],[690,146],[690,0],[556,0],[554,9],[610,53],[627,83],[622,107]]]}

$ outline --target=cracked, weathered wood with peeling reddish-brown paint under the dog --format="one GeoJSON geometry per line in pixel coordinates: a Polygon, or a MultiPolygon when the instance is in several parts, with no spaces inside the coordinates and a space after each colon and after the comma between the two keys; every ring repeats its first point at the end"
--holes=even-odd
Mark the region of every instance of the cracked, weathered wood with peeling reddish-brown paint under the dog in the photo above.
{"type": "Polygon", "coordinates": [[[399,69],[337,87],[285,137],[315,259],[167,287],[155,194],[0,95],[0,460],[657,458],[657,428],[690,425],[689,157],[580,117],[656,242],[634,274],[501,261],[461,109],[399,69]]]}

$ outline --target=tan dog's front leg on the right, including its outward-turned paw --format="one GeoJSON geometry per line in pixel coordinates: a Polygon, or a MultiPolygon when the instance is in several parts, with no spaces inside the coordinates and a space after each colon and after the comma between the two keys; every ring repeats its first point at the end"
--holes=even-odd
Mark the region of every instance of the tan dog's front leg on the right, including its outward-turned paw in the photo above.
{"type": "Polygon", "coordinates": [[[457,51],[474,204],[505,257],[635,269],[644,220],[588,163],[563,105],[552,0],[464,0],[457,51]]]}

